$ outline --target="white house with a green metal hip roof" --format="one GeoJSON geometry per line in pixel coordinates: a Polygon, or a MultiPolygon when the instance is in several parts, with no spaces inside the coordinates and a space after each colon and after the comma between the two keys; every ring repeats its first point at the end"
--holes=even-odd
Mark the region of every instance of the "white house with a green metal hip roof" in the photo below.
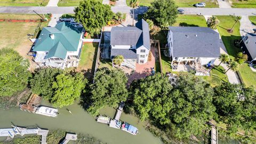
{"type": "Polygon", "coordinates": [[[83,27],[60,22],[55,27],[44,27],[35,46],[35,62],[39,66],[77,67],[83,45],[83,27]]]}

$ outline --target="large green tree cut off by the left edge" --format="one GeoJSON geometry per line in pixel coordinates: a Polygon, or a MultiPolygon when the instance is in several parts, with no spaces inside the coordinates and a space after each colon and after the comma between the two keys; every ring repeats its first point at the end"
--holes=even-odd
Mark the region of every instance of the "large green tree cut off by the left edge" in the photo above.
{"type": "Polygon", "coordinates": [[[0,96],[22,91],[31,76],[29,62],[12,49],[0,49],[0,96]]]}

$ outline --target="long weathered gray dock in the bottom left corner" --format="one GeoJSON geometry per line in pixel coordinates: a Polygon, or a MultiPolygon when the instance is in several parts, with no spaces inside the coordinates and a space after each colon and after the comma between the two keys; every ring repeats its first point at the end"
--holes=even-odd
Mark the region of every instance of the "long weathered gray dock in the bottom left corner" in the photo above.
{"type": "Polygon", "coordinates": [[[49,130],[43,130],[39,127],[27,129],[26,127],[12,126],[12,128],[0,129],[0,137],[11,137],[14,138],[15,135],[25,135],[25,134],[37,134],[41,135],[41,143],[46,144],[46,136],[49,130]]]}

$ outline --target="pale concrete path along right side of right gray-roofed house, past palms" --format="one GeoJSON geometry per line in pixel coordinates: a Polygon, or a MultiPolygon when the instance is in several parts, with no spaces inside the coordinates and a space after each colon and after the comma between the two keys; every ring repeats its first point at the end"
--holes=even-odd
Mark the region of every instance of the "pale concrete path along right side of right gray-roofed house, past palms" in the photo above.
{"type": "MultiPolygon", "coordinates": [[[[205,18],[206,21],[207,21],[207,19],[210,18],[210,17],[212,17],[212,15],[204,15],[204,18],[205,18]]],[[[215,29],[215,31],[216,31],[217,33],[219,33],[218,29],[215,29]]],[[[221,37],[220,37],[220,53],[221,53],[221,54],[228,54],[228,53],[227,53],[227,50],[226,50],[226,47],[225,47],[225,45],[224,45],[223,42],[222,42],[221,37]]],[[[217,60],[215,60],[214,65],[215,65],[215,66],[218,66],[219,63],[220,63],[220,60],[217,59],[217,60]]],[[[222,66],[225,70],[228,70],[228,66],[227,66],[226,63],[221,63],[220,66],[222,66]]],[[[226,75],[227,75],[228,81],[229,81],[230,83],[232,83],[232,84],[239,84],[238,78],[237,78],[237,76],[236,76],[236,74],[235,74],[234,71],[228,70],[227,73],[226,73],[226,75]]]]}

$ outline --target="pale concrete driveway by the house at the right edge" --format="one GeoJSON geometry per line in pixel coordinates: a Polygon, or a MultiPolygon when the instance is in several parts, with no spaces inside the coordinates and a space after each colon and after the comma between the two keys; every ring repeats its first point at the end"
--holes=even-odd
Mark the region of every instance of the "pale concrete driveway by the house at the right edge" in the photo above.
{"type": "Polygon", "coordinates": [[[247,33],[253,33],[253,29],[256,29],[256,26],[252,24],[248,16],[243,15],[240,20],[240,35],[243,37],[247,33]]]}

